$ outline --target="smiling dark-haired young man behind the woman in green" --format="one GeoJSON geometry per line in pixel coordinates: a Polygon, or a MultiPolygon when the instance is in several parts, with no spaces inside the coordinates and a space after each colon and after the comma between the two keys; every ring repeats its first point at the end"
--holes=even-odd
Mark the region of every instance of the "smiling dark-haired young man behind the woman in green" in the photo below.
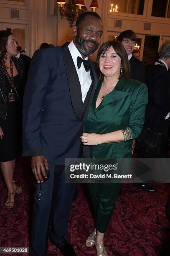
{"type": "Polygon", "coordinates": [[[145,64],[139,59],[134,58],[132,55],[137,40],[136,34],[130,29],[125,30],[120,33],[117,40],[124,46],[124,49],[127,52],[130,64],[130,78],[146,83],[145,64]]]}

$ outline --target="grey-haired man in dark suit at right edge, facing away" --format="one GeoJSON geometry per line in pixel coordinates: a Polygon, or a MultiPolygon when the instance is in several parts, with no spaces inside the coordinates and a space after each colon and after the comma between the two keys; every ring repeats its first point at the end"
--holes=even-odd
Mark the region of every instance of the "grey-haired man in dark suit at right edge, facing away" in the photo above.
{"type": "Polygon", "coordinates": [[[170,42],[160,48],[159,59],[147,68],[149,100],[145,114],[145,128],[162,133],[159,154],[143,152],[144,158],[167,158],[170,141],[170,42]]]}

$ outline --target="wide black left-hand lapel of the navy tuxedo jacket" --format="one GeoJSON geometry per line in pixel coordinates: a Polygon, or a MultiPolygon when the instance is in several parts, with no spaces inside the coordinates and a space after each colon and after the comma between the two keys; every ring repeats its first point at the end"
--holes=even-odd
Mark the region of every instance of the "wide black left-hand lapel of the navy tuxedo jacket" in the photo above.
{"type": "Polygon", "coordinates": [[[74,66],[74,61],[71,57],[68,44],[64,44],[62,47],[63,60],[66,69],[66,75],[69,82],[71,103],[76,116],[82,120],[84,117],[84,108],[82,102],[81,85],[79,77],[74,66]]]}

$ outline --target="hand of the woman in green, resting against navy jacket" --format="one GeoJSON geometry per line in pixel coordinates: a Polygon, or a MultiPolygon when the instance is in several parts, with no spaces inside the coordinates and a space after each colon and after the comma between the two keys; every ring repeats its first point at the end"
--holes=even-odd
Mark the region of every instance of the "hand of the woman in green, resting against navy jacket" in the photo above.
{"type": "Polygon", "coordinates": [[[94,146],[102,143],[101,136],[101,134],[96,133],[82,133],[80,138],[84,145],[94,146]]]}

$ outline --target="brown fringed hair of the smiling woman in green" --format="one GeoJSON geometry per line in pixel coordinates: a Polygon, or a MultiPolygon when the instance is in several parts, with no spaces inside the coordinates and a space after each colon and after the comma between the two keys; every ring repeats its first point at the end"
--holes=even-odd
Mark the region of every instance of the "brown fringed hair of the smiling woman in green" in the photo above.
{"type": "Polygon", "coordinates": [[[122,44],[117,41],[107,41],[104,44],[102,44],[99,48],[99,51],[97,53],[97,69],[99,72],[99,81],[101,79],[103,79],[103,74],[100,71],[99,68],[99,59],[101,54],[105,54],[110,47],[113,47],[114,51],[117,53],[117,55],[120,57],[121,59],[121,64],[122,64],[122,72],[120,72],[120,77],[124,77],[124,79],[128,79],[130,77],[130,65],[129,65],[129,60],[127,57],[127,53],[126,50],[124,49],[124,47],[122,46],[122,44]]]}

